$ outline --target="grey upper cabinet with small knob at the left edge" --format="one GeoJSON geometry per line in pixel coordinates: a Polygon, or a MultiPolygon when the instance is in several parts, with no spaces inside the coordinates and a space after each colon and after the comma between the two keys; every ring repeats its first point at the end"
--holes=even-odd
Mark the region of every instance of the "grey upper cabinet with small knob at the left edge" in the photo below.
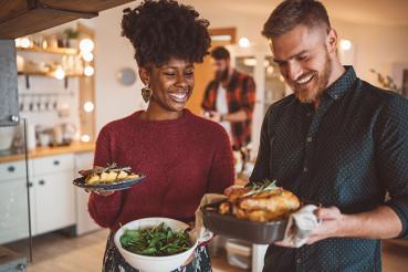
{"type": "Polygon", "coordinates": [[[14,41],[0,40],[0,126],[19,124],[17,85],[14,41]]]}

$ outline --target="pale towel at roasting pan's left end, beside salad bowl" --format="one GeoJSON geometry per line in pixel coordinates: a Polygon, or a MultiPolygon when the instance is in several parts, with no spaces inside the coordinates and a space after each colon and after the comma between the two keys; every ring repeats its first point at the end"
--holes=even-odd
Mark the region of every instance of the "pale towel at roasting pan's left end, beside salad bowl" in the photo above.
{"type": "Polygon", "coordinates": [[[196,210],[196,231],[197,231],[197,239],[198,239],[199,244],[211,240],[211,238],[213,237],[213,233],[209,231],[208,229],[206,229],[203,224],[201,207],[209,205],[209,203],[220,201],[226,198],[227,197],[224,195],[219,195],[219,193],[206,193],[201,198],[200,206],[196,210]]]}

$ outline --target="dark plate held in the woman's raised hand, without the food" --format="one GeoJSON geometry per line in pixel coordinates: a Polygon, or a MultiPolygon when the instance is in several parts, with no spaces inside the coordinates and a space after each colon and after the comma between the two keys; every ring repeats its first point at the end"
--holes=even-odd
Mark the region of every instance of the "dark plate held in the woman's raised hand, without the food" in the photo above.
{"type": "Polygon", "coordinates": [[[135,179],[126,179],[113,184],[101,184],[101,185],[87,185],[85,184],[85,177],[76,178],[72,182],[80,187],[84,188],[90,191],[117,191],[117,190],[125,190],[142,182],[146,176],[139,175],[138,178],[135,179]]]}

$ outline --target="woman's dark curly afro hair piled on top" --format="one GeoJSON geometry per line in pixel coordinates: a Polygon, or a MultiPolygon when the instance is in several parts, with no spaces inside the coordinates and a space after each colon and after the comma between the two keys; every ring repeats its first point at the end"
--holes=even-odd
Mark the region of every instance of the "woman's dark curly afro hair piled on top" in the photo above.
{"type": "Polygon", "coordinates": [[[135,48],[139,66],[160,66],[170,57],[202,62],[211,43],[209,22],[189,6],[174,0],[145,0],[125,9],[122,35],[135,48]]]}

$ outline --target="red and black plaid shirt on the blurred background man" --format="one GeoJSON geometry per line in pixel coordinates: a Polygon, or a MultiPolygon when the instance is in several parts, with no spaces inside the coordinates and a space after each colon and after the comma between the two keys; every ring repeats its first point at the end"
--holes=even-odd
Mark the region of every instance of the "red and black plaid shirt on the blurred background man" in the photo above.
{"type": "MultiPolygon", "coordinates": [[[[217,111],[218,81],[211,81],[206,88],[201,107],[205,111],[217,111]]],[[[227,86],[228,112],[237,113],[245,111],[248,119],[231,123],[232,144],[234,148],[241,148],[251,142],[252,113],[255,105],[255,82],[248,74],[233,71],[227,86]]]]}

